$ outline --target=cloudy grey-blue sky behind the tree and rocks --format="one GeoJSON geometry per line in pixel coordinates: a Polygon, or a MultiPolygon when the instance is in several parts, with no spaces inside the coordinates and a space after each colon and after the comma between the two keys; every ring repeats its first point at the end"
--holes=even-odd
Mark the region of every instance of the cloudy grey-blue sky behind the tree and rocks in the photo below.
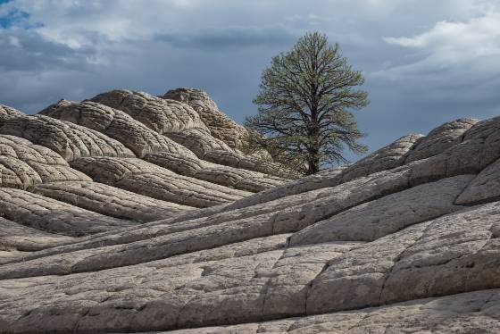
{"type": "Polygon", "coordinates": [[[0,0],[0,104],[192,87],[242,122],[271,57],[313,30],[364,74],[370,151],[500,115],[500,0],[0,0]]]}

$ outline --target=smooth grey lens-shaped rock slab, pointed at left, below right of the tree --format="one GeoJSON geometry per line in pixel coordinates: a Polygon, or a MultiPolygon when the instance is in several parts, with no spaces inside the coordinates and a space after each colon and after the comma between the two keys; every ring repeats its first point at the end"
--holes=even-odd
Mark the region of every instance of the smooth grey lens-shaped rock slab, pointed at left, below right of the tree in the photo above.
{"type": "Polygon", "coordinates": [[[296,232],[290,245],[373,241],[412,224],[453,213],[463,208],[454,205],[454,200],[472,178],[472,175],[462,175],[439,180],[354,206],[296,232]]]}

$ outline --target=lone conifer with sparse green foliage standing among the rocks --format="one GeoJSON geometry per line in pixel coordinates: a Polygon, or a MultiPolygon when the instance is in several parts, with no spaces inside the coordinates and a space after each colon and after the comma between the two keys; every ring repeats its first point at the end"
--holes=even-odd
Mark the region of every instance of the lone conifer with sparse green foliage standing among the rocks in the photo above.
{"type": "Polygon", "coordinates": [[[265,149],[275,161],[309,175],[327,165],[346,163],[345,149],[366,152],[364,134],[352,110],[368,104],[357,89],[364,79],[326,35],[307,33],[296,45],[274,56],[262,72],[254,104],[258,113],[246,118],[246,150],[265,149]]]}

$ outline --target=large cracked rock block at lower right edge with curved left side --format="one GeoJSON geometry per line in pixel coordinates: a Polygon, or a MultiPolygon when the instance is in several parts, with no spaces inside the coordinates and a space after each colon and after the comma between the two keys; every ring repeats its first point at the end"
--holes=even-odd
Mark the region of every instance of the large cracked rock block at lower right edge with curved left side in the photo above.
{"type": "Polygon", "coordinates": [[[398,257],[380,295],[383,303],[497,288],[500,203],[431,221],[398,257]],[[402,288],[402,284],[412,288],[402,288]],[[464,284],[465,283],[465,284],[464,284]]]}

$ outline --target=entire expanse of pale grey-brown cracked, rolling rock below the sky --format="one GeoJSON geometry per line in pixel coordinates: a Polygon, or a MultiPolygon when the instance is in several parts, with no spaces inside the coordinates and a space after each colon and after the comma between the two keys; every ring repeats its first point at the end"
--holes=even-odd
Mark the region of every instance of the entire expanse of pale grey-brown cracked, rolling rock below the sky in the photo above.
{"type": "Polygon", "coordinates": [[[195,89],[0,106],[0,332],[500,332],[500,118],[301,180],[244,136],[195,89]]]}

